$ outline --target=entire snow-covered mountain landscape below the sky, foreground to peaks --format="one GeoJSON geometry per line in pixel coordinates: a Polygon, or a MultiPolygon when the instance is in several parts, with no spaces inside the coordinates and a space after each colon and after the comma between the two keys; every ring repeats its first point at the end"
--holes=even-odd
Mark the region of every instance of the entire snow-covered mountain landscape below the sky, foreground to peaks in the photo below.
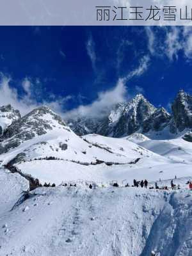
{"type": "Polygon", "coordinates": [[[86,124],[86,132],[99,124],[110,136],[146,132],[124,138],[79,136],[46,106],[8,118],[0,141],[0,255],[191,256],[189,99],[176,99],[171,116],[138,95],[86,124]],[[177,113],[185,116],[182,129],[177,113]],[[171,127],[177,138],[152,140],[171,127]],[[133,179],[147,179],[150,189],[132,188],[133,179]]]}

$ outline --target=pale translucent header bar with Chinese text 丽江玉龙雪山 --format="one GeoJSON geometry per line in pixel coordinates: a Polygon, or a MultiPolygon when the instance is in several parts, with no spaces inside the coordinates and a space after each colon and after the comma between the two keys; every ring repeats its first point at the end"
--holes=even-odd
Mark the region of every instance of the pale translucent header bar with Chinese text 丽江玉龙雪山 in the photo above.
{"type": "Polygon", "coordinates": [[[191,0],[0,0],[0,25],[191,26],[191,0]]]}

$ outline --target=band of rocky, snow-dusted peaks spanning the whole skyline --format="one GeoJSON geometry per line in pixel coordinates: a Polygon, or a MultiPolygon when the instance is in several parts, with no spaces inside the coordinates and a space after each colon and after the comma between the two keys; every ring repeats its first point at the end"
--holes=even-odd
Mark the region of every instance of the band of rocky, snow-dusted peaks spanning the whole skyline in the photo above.
{"type": "Polygon", "coordinates": [[[192,128],[192,96],[180,90],[173,101],[172,114],[164,108],[155,108],[143,95],[138,94],[130,102],[116,104],[108,116],[102,118],[78,116],[65,122],[46,106],[34,109],[22,117],[19,110],[15,110],[11,105],[2,106],[0,153],[8,148],[18,147],[21,141],[30,140],[35,134],[46,134],[47,130],[54,129],[54,125],[51,125],[52,120],[57,120],[63,128],[71,129],[79,136],[95,133],[122,138],[134,132],[148,137],[165,133],[174,135],[192,128]]]}

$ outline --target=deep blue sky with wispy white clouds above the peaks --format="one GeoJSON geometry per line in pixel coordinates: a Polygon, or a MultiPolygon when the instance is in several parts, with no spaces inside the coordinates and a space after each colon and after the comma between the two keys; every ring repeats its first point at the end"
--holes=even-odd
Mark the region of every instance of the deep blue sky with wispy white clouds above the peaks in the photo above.
{"type": "Polygon", "coordinates": [[[40,104],[98,115],[143,93],[170,108],[192,93],[187,27],[0,27],[0,100],[22,113],[40,104]]]}

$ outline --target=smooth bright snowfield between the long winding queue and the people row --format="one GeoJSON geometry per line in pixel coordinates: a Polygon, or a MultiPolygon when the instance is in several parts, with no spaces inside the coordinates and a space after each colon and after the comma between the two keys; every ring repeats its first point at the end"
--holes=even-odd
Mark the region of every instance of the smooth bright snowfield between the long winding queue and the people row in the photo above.
{"type": "Polygon", "coordinates": [[[70,163],[68,161],[31,161],[15,164],[23,173],[31,174],[33,177],[44,182],[57,185],[62,181],[88,180],[97,184],[109,184],[111,180],[123,180],[132,184],[133,179],[149,181],[173,179],[177,177],[192,177],[190,164],[159,163],[156,160],[147,161],[141,159],[137,164],[123,164],[107,166],[97,164],[84,166],[82,164],[70,163]]]}

